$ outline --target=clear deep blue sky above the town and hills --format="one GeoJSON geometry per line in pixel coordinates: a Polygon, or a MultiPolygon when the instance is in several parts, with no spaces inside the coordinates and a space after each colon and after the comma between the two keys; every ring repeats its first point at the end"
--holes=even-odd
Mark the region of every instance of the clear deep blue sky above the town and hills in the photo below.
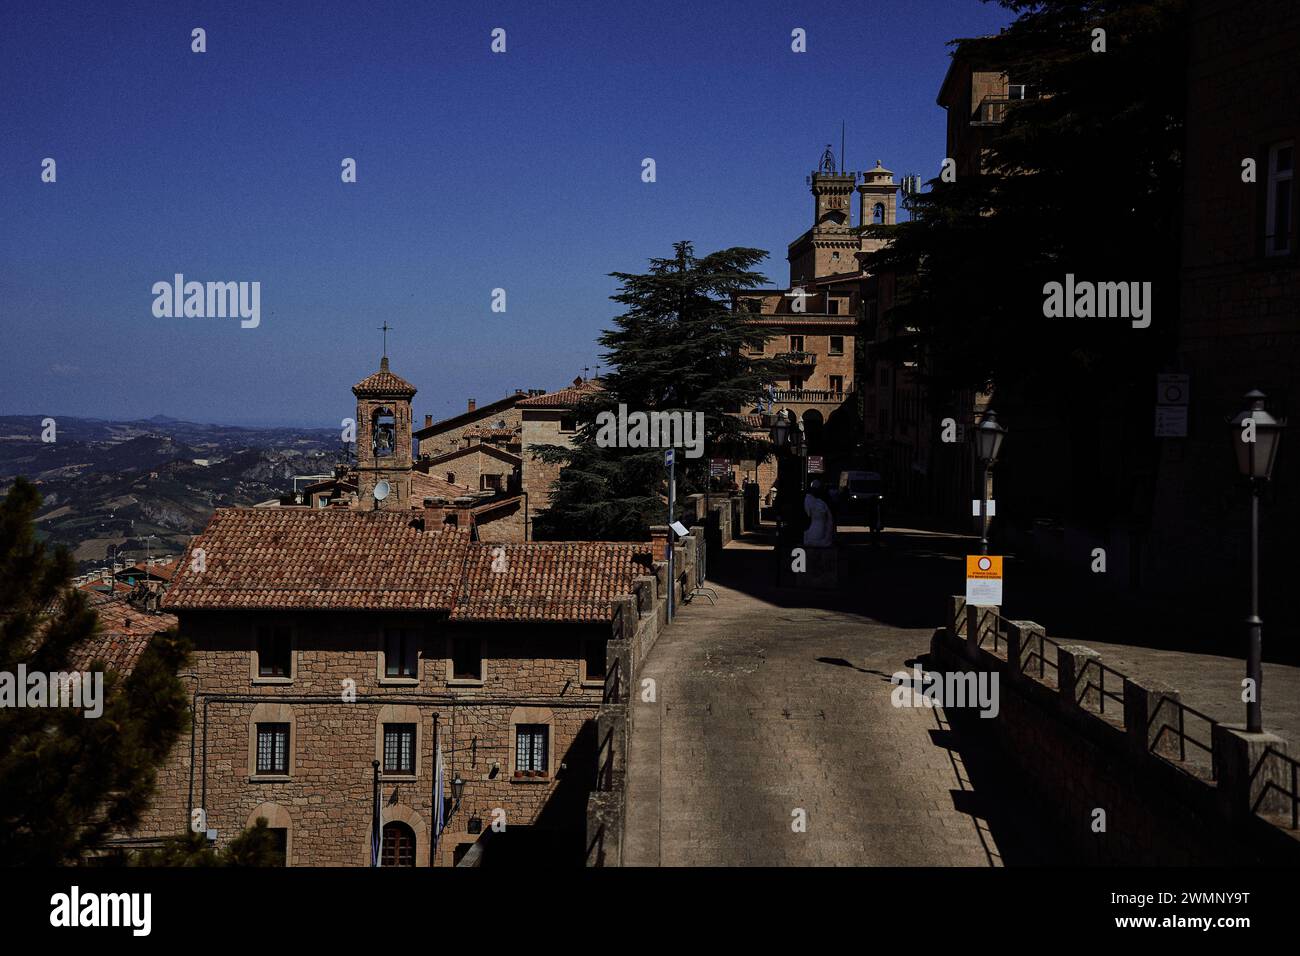
{"type": "Polygon", "coordinates": [[[676,239],[767,248],[784,284],[841,120],[850,168],[935,176],[945,44],[1009,18],[982,0],[4,4],[0,414],[332,425],[385,320],[421,420],[556,388],[601,362],[607,273],[676,239]],[[156,319],[177,272],[260,281],[260,328],[156,319]]]}

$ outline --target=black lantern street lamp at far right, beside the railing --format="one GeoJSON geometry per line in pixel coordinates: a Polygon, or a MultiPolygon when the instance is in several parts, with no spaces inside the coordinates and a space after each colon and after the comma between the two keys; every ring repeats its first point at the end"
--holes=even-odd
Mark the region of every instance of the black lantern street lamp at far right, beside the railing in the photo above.
{"type": "Polygon", "coordinates": [[[1245,730],[1264,731],[1261,702],[1264,684],[1264,622],[1260,619],[1260,494],[1264,483],[1273,477],[1273,466],[1282,444],[1286,419],[1278,421],[1264,410],[1265,394],[1258,389],[1245,393],[1251,406],[1232,419],[1232,441],[1236,444],[1236,467],[1251,481],[1251,617],[1245,619],[1249,644],[1245,675],[1254,685],[1254,695],[1245,705],[1245,730]]]}

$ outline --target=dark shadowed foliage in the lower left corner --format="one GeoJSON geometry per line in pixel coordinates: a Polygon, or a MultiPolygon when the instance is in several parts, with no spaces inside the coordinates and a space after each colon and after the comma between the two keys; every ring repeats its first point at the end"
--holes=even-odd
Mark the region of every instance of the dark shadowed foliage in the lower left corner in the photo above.
{"type": "MultiPolygon", "coordinates": [[[[69,653],[98,627],[86,594],[69,588],[72,558],[36,540],[40,496],[18,479],[0,501],[0,670],[68,671],[69,653]]],[[[0,709],[0,864],[83,860],[138,822],[155,773],[185,730],[188,702],[177,671],[188,645],[153,639],[122,679],[107,674],[104,711],[0,709]]]]}

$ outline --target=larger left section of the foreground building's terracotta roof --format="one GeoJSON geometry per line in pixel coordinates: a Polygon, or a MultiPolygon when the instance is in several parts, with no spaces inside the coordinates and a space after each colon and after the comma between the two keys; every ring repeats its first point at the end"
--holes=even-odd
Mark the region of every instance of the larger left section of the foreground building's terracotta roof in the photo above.
{"type": "Polygon", "coordinates": [[[468,545],[468,529],[424,532],[410,511],[218,509],[162,605],[450,610],[468,545]]]}

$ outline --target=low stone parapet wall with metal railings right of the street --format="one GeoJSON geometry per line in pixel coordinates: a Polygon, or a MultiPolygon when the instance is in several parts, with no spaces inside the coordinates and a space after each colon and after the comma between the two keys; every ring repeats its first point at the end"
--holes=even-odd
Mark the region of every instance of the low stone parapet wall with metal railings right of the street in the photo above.
{"type": "Polygon", "coordinates": [[[997,609],[967,609],[961,597],[952,598],[950,623],[935,632],[928,666],[998,674],[996,718],[966,709],[945,713],[954,726],[993,734],[1024,786],[1049,808],[1078,861],[1300,864],[1300,831],[1287,827],[1290,800],[1278,790],[1290,783],[1290,765],[1265,756],[1270,748],[1286,753],[1284,740],[1201,724],[1193,736],[1213,747],[1213,763],[1197,762],[1191,744],[1188,758],[1182,760],[1173,732],[1175,689],[1114,672],[1102,683],[1098,666],[1105,662],[1095,650],[1053,644],[1037,624],[1000,622],[989,611],[997,609]],[[974,628],[972,613],[979,618],[974,628]],[[998,623],[1002,631],[994,649],[998,623]],[[980,639],[978,646],[966,639],[972,632],[980,639]],[[1045,658],[1041,679],[1040,652],[1045,658]],[[1105,713],[1102,687],[1112,695],[1105,713]],[[1266,816],[1254,813],[1256,808],[1266,816]],[[1098,810],[1105,814],[1104,831],[1095,829],[1098,810]]]}

